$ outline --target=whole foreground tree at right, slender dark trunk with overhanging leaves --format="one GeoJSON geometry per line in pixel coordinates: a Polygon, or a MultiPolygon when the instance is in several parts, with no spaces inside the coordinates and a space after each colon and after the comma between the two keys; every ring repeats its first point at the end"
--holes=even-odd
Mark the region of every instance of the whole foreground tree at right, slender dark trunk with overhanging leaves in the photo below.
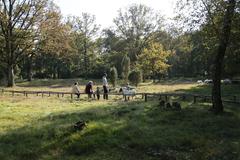
{"type": "MultiPolygon", "coordinates": [[[[208,45],[211,48],[215,60],[213,62],[213,105],[215,113],[223,111],[221,100],[221,77],[223,60],[229,44],[232,19],[235,13],[236,0],[179,0],[180,15],[186,16],[191,24],[189,28],[203,29],[206,37],[215,42],[208,45]],[[187,15],[188,14],[188,15],[187,15]]],[[[180,16],[180,17],[181,17],[180,16]]],[[[185,17],[185,18],[186,18],[185,17]]],[[[189,26],[189,25],[188,25],[189,26]]],[[[210,43],[211,43],[210,42],[210,43]]]]}

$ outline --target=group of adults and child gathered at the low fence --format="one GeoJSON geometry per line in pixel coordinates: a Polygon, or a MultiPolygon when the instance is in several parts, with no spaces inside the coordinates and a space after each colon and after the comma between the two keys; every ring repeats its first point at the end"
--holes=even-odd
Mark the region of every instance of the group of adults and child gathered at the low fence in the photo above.
{"type": "MultiPolygon", "coordinates": [[[[102,77],[102,83],[103,83],[103,99],[108,100],[108,82],[107,82],[107,74],[105,73],[102,77]]],[[[92,95],[97,95],[97,99],[100,99],[100,87],[97,87],[96,91],[93,91],[93,81],[89,81],[86,84],[85,87],[85,93],[88,94],[88,98],[92,98],[92,95]]],[[[72,93],[77,95],[77,98],[80,98],[80,88],[78,86],[78,83],[75,82],[72,87],[72,93]]],[[[95,97],[94,97],[95,98],[95,97]]]]}

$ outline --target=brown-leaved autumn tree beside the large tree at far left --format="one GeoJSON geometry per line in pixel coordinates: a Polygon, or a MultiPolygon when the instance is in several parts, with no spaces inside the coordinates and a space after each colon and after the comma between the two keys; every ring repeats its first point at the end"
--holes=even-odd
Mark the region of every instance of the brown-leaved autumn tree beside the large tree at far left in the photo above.
{"type": "MultiPolygon", "coordinates": [[[[39,59],[47,57],[42,66],[47,67],[53,78],[60,78],[60,70],[63,67],[64,59],[71,56],[73,40],[71,28],[64,24],[59,9],[52,5],[45,15],[45,21],[40,24],[40,35],[38,37],[37,52],[41,53],[39,59]]],[[[46,68],[45,68],[46,69],[46,68]]]]}

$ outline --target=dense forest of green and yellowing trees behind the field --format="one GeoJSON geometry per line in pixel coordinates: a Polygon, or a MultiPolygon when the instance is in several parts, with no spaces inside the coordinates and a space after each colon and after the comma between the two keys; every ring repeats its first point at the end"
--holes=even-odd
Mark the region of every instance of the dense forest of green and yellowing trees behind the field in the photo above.
{"type": "MultiPolygon", "coordinates": [[[[50,0],[0,1],[0,79],[101,78],[116,68],[127,79],[211,78],[226,10],[224,0],[179,0],[169,21],[141,4],[119,9],[113,26],[94,15],[63,17],[50,0]],[[126,76],[127,75],[127,76],[126,76]]],[[[240,6],[237,1],[223,76],[240,74],[240,6]]]]}

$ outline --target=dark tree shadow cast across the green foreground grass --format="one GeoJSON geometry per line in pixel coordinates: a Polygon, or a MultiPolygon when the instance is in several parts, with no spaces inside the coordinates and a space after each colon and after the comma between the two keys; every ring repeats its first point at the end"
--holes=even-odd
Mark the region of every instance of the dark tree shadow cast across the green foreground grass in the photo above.
{"type": "Polygon", "coordinates": [[[240,117],[229,113],[130,102],[52,114],[0,135],[0,159],[237,159],[240,117]],[[75,131],[79,120],[88,126],[75,131]]]}

